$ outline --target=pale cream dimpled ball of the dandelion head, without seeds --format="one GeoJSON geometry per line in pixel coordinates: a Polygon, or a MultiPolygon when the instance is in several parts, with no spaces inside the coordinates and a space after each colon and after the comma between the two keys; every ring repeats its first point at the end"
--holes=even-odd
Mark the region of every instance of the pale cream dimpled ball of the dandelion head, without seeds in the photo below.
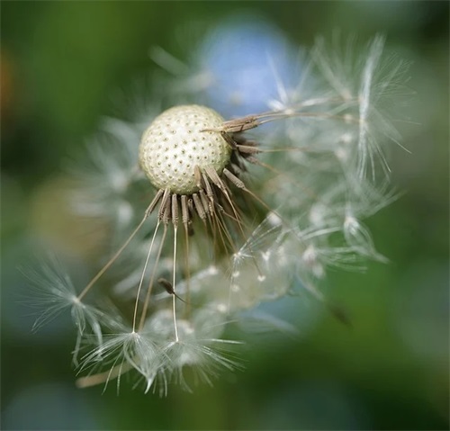
{"type": "Polygon", "coordinates": [[[199,105],[175,106],[161,113],[144,132],[139,164],[151,183],[172,193],[198,192],[195,166],[212,166],[220,175],[229,163],[231,148],[217,131],[220,115],[199,105]]]}

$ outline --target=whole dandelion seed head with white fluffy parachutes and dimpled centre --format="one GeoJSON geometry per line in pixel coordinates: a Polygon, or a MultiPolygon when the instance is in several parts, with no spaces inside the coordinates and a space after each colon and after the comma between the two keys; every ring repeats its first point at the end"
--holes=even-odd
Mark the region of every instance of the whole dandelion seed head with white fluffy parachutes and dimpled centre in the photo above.
{"type": "Polygon", "coordinates": [[[72,313],[79,387],[119,386],[127,374],[165,394],[172,382],[191,387],[186,369],[211,382],[240,366],[232,322],[245,330],[247,312],[299,286],[326,303],[330,268],[386,260],[364,224],[395,197],[386,145],[400,139],[391,111],[404,67],[383,44],[339,50],[320,39],[297,75],[270,61],[265,106],[230,116],[220,111],[242,102],[232,79],[222,110],[223,76],[152,50],[158,102],[135,121],[103,121],[72,170],[71,208],[108,220],[115,250],[85,286],[54,261],[31,276],[47,304],[36,327],[72,313]]]}

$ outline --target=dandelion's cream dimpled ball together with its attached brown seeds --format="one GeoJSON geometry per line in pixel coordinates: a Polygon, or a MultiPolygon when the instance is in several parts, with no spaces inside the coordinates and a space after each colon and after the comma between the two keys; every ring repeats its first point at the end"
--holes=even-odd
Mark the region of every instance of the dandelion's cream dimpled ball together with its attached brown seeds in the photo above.
{"type": "Polygon", "coordinates": [[[227,221],[221,217],[238,224],[241,219],[230,186],[251,193],[238,173],[246,169],[246,160],[257,163],[259,152],[257,143],[239,132],[257,125],[254,117],[224,121],[199,105],[175,106],[161,113],[144,132],[139,147],[140,166],[158,188],[147,214],[159,203],[159,221],[172,221],[176,227],[181,216],[187,228],[195,214],[203,222],[209,220],[211,229],[225,229],[230,238],[227,221]]]}

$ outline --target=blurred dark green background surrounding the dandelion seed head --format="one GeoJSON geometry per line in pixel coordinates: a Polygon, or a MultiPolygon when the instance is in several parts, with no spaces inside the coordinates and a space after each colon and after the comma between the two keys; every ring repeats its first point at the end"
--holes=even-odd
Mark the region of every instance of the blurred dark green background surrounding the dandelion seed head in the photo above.
{"type": "MultiPolygon", "coordinates": [[[[2,2],[2,429],[448,429],[448,2],[2,2]],[[243,352],[223,373],[165,399],[76,390],[66,319],[31,334],[18,266],[36,245],[74,241],[58,215],[63,160],[112,94],[157,67],[180,25],[246,11],[298,46],[334,29],[387,36],[416,94],[393,151],[397,202],[368,220],[390,265],[336,272],[328,295],[353,328],[319,313],[295,339],[243,352]]],[[[238,47],[237,47],[238,49],[238,47]]],[[[150,75],[151,76],[151,75],[150,75]]],[[[36,247],[36,248],[35,248],[36,247]]],[[[311,305],[314,307],[314,305],[311,305]]],[[[301,311],[299,311],[301,312],[301,311]]]]}

